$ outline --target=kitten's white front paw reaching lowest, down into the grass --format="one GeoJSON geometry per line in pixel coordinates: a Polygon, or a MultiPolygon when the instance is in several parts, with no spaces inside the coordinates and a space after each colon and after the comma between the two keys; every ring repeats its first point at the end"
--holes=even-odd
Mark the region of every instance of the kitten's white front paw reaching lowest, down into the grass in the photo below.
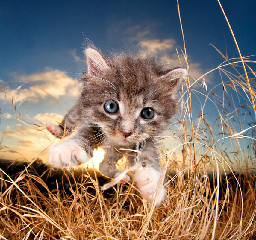
{"type": "MultiPolygon", "coordinates": [[[[134,178],[137,181],[141,193],[151,202],[153,202],[156,196],[156,192],[158,190],[157,183],[160,177],[161,172],[154,168],[143,168],[135,171],[134,178]]],[[[161,203],[165,197],[164,187],[160,186],[160,188],[157,204],[161,203]]]]}

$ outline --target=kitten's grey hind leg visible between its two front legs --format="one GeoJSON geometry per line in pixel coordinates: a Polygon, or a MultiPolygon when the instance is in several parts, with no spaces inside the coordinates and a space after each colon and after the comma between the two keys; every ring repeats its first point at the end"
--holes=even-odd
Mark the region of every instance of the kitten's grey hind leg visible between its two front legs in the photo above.
{"type": "MultiPolygon", "coordinates": [[[[122,155],[118,154],[112,148],[106,148],[106,157],[99,165],[100,172],[105,176],[111,178],[119,176],[122,172],[116,169],[115,163],[121,157],[122,155]]],[[[128,175],[125,175],[121,181],[130,181],[130,177],[128,175]]]]}

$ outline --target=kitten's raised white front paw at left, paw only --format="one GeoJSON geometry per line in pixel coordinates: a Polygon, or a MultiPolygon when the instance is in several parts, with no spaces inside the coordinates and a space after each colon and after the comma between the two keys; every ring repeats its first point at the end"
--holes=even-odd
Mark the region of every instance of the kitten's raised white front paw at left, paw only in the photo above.
{"type": "Polygon", "coordinates": [[[49,163],[60,167],[76,167],[90,157],[74,140],[68,139],[50,148],[49,163]]]}

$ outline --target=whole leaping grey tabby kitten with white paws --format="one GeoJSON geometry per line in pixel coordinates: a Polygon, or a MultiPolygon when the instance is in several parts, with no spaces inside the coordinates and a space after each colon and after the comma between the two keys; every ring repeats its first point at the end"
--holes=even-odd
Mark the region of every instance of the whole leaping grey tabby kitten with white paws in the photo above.
{"type": "MultiPolygon", "coordinates": [[[[77,130],[50,148],[49,163],[77,166],[87,162],[99,145],[138,150],[141,154],[127,150],[127,160],[143,167],[135,171],[134,179],[143,196],[152,201],[162,174],[154,136],[167,129],[176,113],[176,89],[187,70],[168,69],[152,57],[106,57],[92,48],[85,54],[88,72],[81,78],[84,87],[78,101],[59,126],[47,124],[57,137],[77,130]]],[[[114,178],[121,173],[115,163],[122,155],[113,148],[105,151],[99,169],[114,178]]],[[[130,180],[129,176],[124,180],[130,180]]],[[[157,203],[165,196],[163,186],[159,191],[157,203]]]]}

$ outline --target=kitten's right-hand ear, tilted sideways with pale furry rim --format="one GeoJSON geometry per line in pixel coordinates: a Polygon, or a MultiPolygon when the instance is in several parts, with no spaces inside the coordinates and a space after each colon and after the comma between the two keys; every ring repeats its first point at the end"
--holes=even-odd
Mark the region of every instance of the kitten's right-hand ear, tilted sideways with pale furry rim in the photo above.
{"type": "Polygon", "coordinates": [[[178,86],[178,83],[187,76],[187,69],[185,68],[175,68],[161,76],[160,78],[169,80],[172,90],[174,91],[178,86]]]}

